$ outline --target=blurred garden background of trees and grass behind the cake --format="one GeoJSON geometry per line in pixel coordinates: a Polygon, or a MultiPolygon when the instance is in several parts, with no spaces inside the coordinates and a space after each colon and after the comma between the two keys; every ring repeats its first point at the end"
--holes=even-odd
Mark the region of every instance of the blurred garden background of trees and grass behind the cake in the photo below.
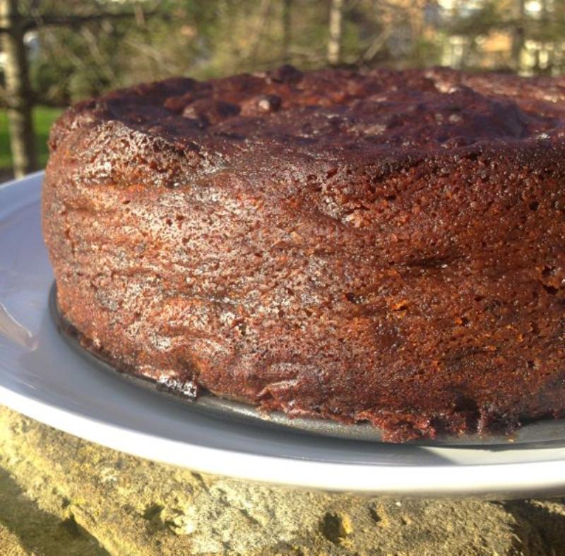
{"type": "Polygon", "coordinates": [[[565,0],[0,0],[0,179],[85,97],[283,63],[565,72],[565,0]]]}

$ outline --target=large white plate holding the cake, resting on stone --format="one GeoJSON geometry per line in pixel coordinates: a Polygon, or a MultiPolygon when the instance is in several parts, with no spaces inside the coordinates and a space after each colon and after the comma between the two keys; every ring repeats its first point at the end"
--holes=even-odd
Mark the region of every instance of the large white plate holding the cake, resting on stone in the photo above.
{"type": "Polygon", "coordinates": [[[565,443],[417,447],[273,431],[208,416],[100,372],[49,319],[42,174],[0,186],[0,403],[93,442],[220,475],[327,490],[565,494],[565,443]]]}

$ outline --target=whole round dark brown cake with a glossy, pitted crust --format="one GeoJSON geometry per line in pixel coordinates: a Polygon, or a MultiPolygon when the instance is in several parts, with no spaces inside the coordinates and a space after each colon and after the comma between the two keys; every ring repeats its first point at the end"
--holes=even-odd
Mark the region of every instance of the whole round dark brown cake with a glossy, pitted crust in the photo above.
{"type": "Polygon", "coordinates": [[[44,234],[129,373],[391,441],[565,409],[565,79],[284,66],[66,111],[44,234]]]}

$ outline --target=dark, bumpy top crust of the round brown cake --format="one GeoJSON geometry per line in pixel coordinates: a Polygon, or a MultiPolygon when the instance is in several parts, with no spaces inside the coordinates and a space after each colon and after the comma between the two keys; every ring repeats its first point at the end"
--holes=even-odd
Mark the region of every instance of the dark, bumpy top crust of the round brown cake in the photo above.
{"type": "Polygon", "coordinates": [[[564,100],[565,78],[282,66],[111,92],[66,111],[50,146],[56,150],[77,128],[97,127],[98,140],[86,150],[105,150],[103,138],[112,137],[114,150],[121,141],[121,154],[142,166],[151,157],[149,165],[167,174],[163,181],[177,186],[181,168],[194,178],[227,167],[264,173],[282,159],[302,167],[307,160],[390,164],[477,145],[559,140],[564,100]]]}

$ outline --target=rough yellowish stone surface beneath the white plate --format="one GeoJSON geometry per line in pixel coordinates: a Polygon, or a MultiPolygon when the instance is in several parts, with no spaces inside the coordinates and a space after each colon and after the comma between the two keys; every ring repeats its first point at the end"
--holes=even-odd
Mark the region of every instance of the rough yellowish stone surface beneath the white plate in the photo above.
{"type": "Polygon", "coordinates": [[[394,500],[203,476],[0,407],[1,555],[561,555],[565,501],[394,500]]]}

